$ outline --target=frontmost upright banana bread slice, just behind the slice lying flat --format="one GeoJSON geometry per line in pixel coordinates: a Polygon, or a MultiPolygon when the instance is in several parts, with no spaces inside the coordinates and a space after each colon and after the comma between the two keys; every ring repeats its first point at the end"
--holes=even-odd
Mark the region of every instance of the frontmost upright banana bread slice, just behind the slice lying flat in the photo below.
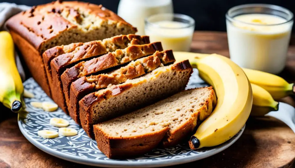
{"type": "Polygon", "coordinates": [[[185,60],[88,94],[79,101],[81,125],[89,137],[94,138],[93,124],[132,112],[180,92],[186,87],[191,73],[192,67],[185,60]]]}

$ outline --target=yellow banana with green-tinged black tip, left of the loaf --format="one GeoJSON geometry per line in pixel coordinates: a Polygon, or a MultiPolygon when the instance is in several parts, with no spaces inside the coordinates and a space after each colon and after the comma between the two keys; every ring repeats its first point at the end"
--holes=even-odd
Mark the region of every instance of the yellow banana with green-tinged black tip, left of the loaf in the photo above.
{"type": "Polygon", "coordinates": [[[14,43],[7,31],[0,32],[0,102],[13,112],[22,109],[24,87],[14,59],[14,43]]]}

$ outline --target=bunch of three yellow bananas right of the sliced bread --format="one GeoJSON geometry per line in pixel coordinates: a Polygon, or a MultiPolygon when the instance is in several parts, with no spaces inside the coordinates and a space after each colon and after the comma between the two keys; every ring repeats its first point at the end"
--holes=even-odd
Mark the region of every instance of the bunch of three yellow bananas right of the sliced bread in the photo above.
{"type": "Polygon", "coordinates": [[[227,141],[245,124],[250,111],[253,116],[263,116],[270,111],[277,111],[279,103],[273,97],[280,99],[294,94],[295,91],[294,84],[289,84],[281,77],[241,69],[230,59],[217,54],[173,54],[176,61],[189,59],[191,65],[198,68],[200,77],[212,85],[217,94],[217,107],[191,137],[189,144],[192,149],[215,146],[227,141]],[[240,82],[240,78],[247,79],[247,82],[240,82]],[[252,95],[249,95],[250,90],[253,92],[253,104],[252,95]],[[240,108],[237,108],[237,105],[240,108]]]}

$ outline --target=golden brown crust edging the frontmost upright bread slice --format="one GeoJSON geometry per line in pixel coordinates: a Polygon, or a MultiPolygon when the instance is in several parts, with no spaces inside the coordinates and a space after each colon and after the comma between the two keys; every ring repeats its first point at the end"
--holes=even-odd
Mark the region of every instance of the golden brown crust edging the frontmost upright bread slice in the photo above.
{"type": "MultiPolygon", "coordinates": [[[[174,64],[171,67],[171,69],[173,71],[190,71],[189,76],[192,73],[192,67],[189,64],[189,60],[178,62],[174,64]]],[[[186,83],[188,82],[188,80],[189,80],[189,77],[186,83]]],[[[105,90],[104,92],[98,91],[98,92],[93,92],[91,94],[88,94],[79,101],[79,106],[80,106],[79,113],[80,113],[81,125],[82,125],[82,128],[85,130],[85,132],[89,135],[89,137],[93,138],[93,125],[92,125],[93,121],[90,116],[90,111],[93,105],[96,102],[104,101],[111,97],[123,94],[124,92],[131,89],[132,87],[137,87],[137,85],[133,86],[131,83],[123,83],[123,84],[111,87],[105,90]]]]}

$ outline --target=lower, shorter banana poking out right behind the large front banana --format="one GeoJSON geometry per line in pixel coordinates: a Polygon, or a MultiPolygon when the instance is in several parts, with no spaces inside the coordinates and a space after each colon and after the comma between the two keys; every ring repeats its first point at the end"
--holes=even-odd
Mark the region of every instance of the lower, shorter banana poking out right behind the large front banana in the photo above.
{"type": "Polygon", "coordinates": [[[253,105],[251,116],[264,116],[268,112],[278,110],[278,102],[276,102],[271,94],[262,87],[251,84],[253,91],[253,105]]]}

